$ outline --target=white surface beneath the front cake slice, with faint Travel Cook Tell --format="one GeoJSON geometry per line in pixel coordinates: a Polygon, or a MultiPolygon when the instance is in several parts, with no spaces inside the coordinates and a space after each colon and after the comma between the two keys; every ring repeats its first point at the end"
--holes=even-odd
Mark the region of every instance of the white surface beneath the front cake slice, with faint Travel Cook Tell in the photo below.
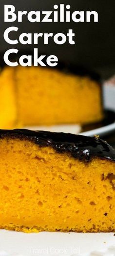
{"type": "Polygon", "coordinates": [[[0,256],[115,256],[115,236],[1,230],[0,256]]]}

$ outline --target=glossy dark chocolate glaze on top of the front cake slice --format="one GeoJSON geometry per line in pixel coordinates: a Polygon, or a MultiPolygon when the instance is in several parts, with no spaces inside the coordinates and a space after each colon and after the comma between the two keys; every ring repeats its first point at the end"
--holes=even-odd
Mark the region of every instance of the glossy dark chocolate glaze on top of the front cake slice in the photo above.
{"type": "Polygon", "coordinates": [[[115,161],[115,150],[98,137],[28,129],[0,129],[0,138],[3,137],[30,140],[40,147],[52,147],[58,153],[70,153],[71,156],[79,160],[89,161],[92,157],[99,157],[115,161]]]}

